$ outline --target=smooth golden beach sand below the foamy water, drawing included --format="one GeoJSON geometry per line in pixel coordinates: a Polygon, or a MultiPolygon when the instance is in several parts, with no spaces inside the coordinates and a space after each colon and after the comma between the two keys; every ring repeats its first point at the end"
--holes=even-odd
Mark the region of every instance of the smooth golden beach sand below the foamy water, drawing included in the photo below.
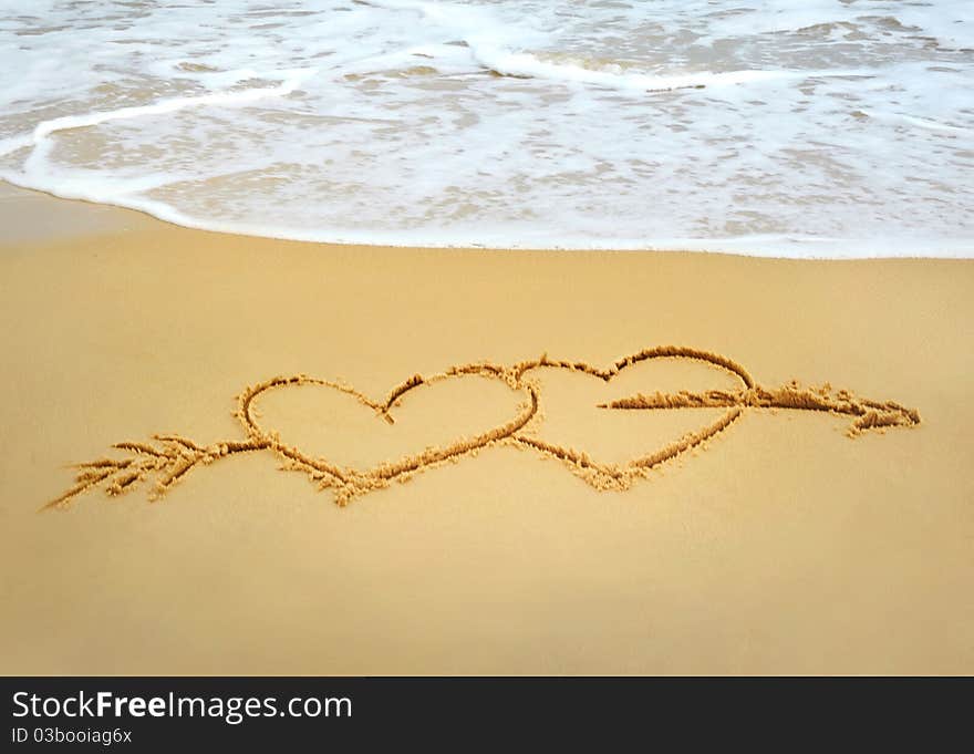
{"type": "Polygon", "coordinates": [[[0,672],[974,672],[974,262],[0,198],[0,672]]]}

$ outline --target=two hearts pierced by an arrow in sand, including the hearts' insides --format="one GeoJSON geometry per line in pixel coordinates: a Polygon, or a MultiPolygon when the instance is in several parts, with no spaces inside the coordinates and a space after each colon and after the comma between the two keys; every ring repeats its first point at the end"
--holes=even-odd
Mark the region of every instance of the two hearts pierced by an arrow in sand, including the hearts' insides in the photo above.
{"type": "MultiPolygon", "coordinates": [[[[577,386],[572,390],[568,393],[570,396],[584,393],[579,393],[577,386]]],[[[512,444],[543,457],[557,458],[597,489],[628,489],[650,469],[726,430],[743,412],[764,409],[851,419],[847,431],[850,436],[920,424],[920,414],[914,409],[893,401],[857,397],[846,390],[833,391],[829,384],[804,388],[791,381],[766,389],[727,357],[683,345],[644,349],[608,366],[559,361],[547,355],[512,365],[462,364],[429,378],[416,374],[393,389],[383,401],[370,399],[336,382],[307,375],[280,376],[247,388],[238,396],[235,415],[244,427],[246,440],[199,445],[173,434],[154,435],[154,442],[149,443],[116,443],[114,447],[125,452],[126,457],[104,457],[77,464],[74,486],[43,507],[64,507],[95,487],[102,487],[108,495],[122,495],[147,479],[155,481],[155,497],[160,497],[193,468],[255,451],[274,453],[283,461],[284,469],[303,472],[319,487],[334,489],[335,500],[344,505],[353,497],[386,487],[393,481],[405,481],[416,472],[474,455],[496,443],[512,444]],[[633,369],[636,364],[663,361],[684,366],[688,363],[707,366],[711,374],[705,385],[713,384],[709,380],[715,373],[726,384],[718,389],[704,386],[697,390],[691,384],[687,389],[692,380],[690,372],[684,371],[676,390],[632,394],[633,385],[628,384],[625,375],[636,374],[639,370],[633,369]],[[621,419],[616,412],[629,412],[625,417],[629,428],[620,430],[621,425],[613,424],[610,413],[600,420],[593,415],[591,401],[579,399],[574,404],[569,401],[568,407],[561,409],[577,427],[582,427],[574,430],[574,441],[566,440],[566,434],[559,435],[557,427],[553,427],[556,436],[551,436],[550,426],[546,434],[541,395],[547,391],[552,403],[557,404],[558,391],[550,384],[543,386],[545,374],[577,378],[581,382],[601,381],[605,388],[612,385],[629,393],[623,397],[605,395],[595,403],[594,410],[594,413],[612,412],[616,421],[621,419]],[[683,382],[684,378],[686,382],[683,382]],[[463,390],[453,397],[447,395],[459,385],[475,382],[479,389],[467,391],[466,395],[462,394],[463,390]],[[273,399],[282,395],[293,401],[301,393],[299,388],[311,388],[305,395],[327,396],[343,406],[324,409],[315,406],[313,401],[310,404],[292,402],[289,406],[287,400],[274,405],[273,399]],[[493,399],[489,397],[491,391],[493,399]],[[438,407],[435,401],[426,402],[435,395],[445,397],[446,402],[438,407]],[[495,401],[498,397],[499,402],[495,401]],[[350,402],[350,399],[354,400],[350,402]],[[273,426],[261,423],[265,421],[258,411],[261,401],[270,410],[273,426]],[[359,405],[354,404],[355,401],[359,405]],[[361,407],[369,410],[367,417],[363,419],[361,407]],[[348,413],[341,414],[350,409],[351,417],[348,413]],[[583,412],[589,416],[586,417],[583,412]],[[661,422],[661,412],[671,415],[661,422]],[[684,415],[673,422],[675,414],[684,415]],[[692,419],[685,421],[691,414],[692,419]],[[395,426],[397,416],[402,419],[400,428],[395,426]],[[287,440],[281,437],[282,425],[287,440]],[[657,436],[653,437],[650,430],[654,425],[657,430],[660,426],[669,428],[671,434],[667,436],[664,432],[660,435],[657,431],[657,436]],[[633,431],[634,426],[638,431],[633,431]],[[621,447],[622,461],[613,461],[602,450],[597,450],[599,441],[607,437],[614,438],[621,447]],[[400,440],[403,442],[397,445],[400,440]],[[594,458],[593,454],[600,457],[594,458]]],[[[557,422],[551,422],[555,424],[557,422]]],[[[571,422],[568,428],[571,431],[571,422]]]]}

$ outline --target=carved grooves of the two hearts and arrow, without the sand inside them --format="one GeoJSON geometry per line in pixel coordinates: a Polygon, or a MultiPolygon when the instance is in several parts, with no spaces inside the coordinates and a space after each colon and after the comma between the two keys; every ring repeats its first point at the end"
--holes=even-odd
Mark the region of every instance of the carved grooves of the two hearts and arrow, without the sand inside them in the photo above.
{"type": "MultiPolygon", "coordinates": [[[[470,407],[474,403],[479,404],[483,399],[481,395],[466,399],[466,405],[470,407]]],[[[768,390],[758,385],[740,364],[726,357],[678,345],[644,349],[604,368],[582,361],[555,360],[548,355],[512,365],[489,362],[463,364],[428,378],[416,374],[400,383],[382,401],[370,399],[338,382],[307,375],[279,376],[247,388],[238,396],[235,415],[245,430],[245,440],[200,445],[182,435],[155,435],[153,443],[117,443],[114,447],[126,453],[125,457],[105,457],[77,464],[74,486],[48,503],[44,508],[64,507],[77,496],[97,487],[112,496],[122,495],[151,478],[155,481],[152,496],[158,498],[197,466],[257,451],[272,452],[281,459],[281,468],[303,472],[320,488],[334,489],[335,500],[340,505],[386,487],[392,482],[404,482],[417,472],[476,455],[481,448],[495,444],[511,444],[557,458],[597,489],[628,489],[634,481],[646,476],[651,469],[706,443],[750,409],[787,409],[851,416],[848,434],[852,436],[870,430],[883,431],[887,427],[914,426],[920,423],[920,415],[913,409],[892,401],[860,399],[848,391],[832,391],[830,385],[802,388],[792,381],[768,390]],[[659,447],[643,447],[641,443],[631,448],[622,462],[594,458],[584,447],[579,450],[546,437],[542,410],[545,391],[541,386],[543,373],[572,373],[582,379],[594,378],[609,384],[614,383],[623,372],[634,371],[632,368],[636,364],[660,360],[682,360],[708,366],[725,381],[729,380],[729,385],[696,391],[636,392],[604,401],[597,404],[597,407],[604,411],[666,413],[684,409],[708,410],[715,416],[700,422],[676,438],[661,443],[659,447]],[[428,392],[428,389],[438,385],[455,386],[474,380],[489,381],[493,390],[499,390],[495,395],[498,399],[496,403],[502,405],[504,411],[498,409],[498,415],[494,420],[488,421],[478,415],[477,411],[442,410],[443,419],[452,425],[455,426],[460,417],[465,417],[474,424],[475,431],[460,435],[448,430],[445,434],[449,438],[442,445],[426,445],[425,450],[418,452],[401,451],[393,461],[365,463],[364,467],[336,459],[334,455],[336,451],[341,451],[340,445],[332,445],[331,452],[322,455],[309,451],[307,440],[302,440],[301,446],[291,444],[288,438],[281,437],[280,428],[266,428],[258,411],[259,401],[269,395],[289,389],[311,386],[325,390],[328,395],[354,399],[361,406],[371,410],[374,419],[394,425],[395,414],[400,410],[406,412],[408,406],[405,404],[415,402],[421,392],[418,389],[423,388],[428,392]]],[[[442,427],[433,427],[434,431],[439,428],[442,427]]]]}

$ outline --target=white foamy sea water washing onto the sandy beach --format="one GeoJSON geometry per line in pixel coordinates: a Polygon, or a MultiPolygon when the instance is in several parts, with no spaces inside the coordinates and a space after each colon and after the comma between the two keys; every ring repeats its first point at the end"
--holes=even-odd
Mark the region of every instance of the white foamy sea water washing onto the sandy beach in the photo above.
{"type": "Polygon", "coordinates": [[[281,238],[974,256],[974,0],[0,0],[0,178],[281,238]]]}

